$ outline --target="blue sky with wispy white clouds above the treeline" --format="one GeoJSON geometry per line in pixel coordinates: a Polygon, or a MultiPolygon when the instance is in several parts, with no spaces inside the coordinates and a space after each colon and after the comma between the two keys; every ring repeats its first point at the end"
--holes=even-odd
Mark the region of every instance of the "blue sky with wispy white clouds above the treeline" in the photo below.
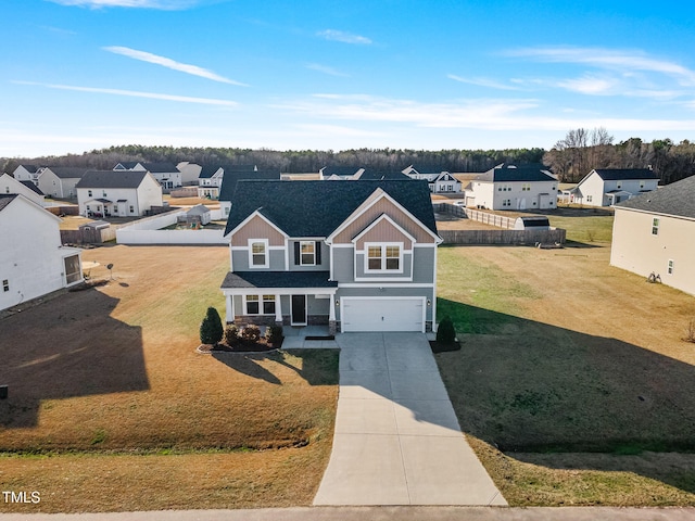
{"type": "Polygon", "coordinates": [[[0,20],[0,156],[695,137],[687,2],[2,0],[0,20]]]}

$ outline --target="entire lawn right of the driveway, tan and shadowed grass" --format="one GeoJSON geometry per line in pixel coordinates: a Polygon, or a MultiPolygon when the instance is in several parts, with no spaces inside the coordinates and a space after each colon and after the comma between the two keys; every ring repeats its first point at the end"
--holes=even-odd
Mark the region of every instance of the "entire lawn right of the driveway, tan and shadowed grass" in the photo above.
{"type": "Polygon", "coordinates": [[[609,246],[440,250],[437,355],[462,428],[513,505],[695,505],[695,297],[609,246]]]}

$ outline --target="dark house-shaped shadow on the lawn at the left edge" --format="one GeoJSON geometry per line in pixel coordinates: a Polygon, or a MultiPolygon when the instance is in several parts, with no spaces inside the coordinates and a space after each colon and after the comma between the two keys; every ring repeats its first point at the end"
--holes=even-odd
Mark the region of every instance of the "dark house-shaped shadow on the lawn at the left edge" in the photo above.
{"type": "Polygon", "coordinates": [[[46,399],[150,389],[141,329],[111,317],[117,304],[89,289],[0,320],[2,428],[36,427],[46,399]]]}

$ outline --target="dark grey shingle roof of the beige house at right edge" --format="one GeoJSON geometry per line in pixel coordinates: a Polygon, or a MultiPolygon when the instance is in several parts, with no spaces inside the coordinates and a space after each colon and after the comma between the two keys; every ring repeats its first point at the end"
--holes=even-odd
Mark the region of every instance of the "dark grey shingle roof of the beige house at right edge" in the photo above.
{"type": "Polygon", "coordinates": [[[616,206],[695,219],[695,176],[643,193],[616,206]]]}

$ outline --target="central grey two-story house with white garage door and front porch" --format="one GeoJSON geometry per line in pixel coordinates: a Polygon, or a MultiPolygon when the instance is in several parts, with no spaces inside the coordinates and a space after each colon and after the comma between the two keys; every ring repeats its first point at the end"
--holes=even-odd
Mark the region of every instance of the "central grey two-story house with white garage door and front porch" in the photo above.
{"type": "Polygon", "coordinates": [[[437,232],[422,181],[239,181],[227,322],[420,331],[437,321],[437,232]]]}

